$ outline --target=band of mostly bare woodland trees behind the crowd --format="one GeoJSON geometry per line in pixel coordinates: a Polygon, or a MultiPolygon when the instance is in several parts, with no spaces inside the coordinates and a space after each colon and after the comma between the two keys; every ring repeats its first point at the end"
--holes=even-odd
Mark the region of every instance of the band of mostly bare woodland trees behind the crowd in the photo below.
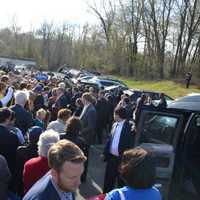
{"type": "Polygon", "coordinates": [[[98,24],[44,21],[24,32],[13,18],[0,29],[0,55],[38,67],[85,67],[137,79],[200,78],[199,0],[101,0],[88,4],[98,24]]]}

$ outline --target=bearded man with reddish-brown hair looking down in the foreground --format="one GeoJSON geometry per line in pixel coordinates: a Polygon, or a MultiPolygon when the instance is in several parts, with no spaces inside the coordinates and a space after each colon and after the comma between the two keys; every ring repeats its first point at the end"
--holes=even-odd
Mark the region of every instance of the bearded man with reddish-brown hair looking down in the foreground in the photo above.
{"type": "Polygon", "coordinates": [[[60,140],[48,153],[51,170],[28,191],[23,200],[75,200],[86,157],[68,140],[60,140]]]}

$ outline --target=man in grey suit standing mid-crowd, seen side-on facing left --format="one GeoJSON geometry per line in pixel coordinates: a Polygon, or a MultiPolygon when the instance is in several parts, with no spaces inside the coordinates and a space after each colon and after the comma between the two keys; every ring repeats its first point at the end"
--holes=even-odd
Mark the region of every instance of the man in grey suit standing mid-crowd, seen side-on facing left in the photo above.
{"type": "Polygon", "coordinates": [[[84,105],[83,111],[80,116],[81,120],[81,133],[88,145],[93,144],[96,128],[96,109],[93,106],[93,97],[90,93],[82,95],[82,102],[84,105]]]}

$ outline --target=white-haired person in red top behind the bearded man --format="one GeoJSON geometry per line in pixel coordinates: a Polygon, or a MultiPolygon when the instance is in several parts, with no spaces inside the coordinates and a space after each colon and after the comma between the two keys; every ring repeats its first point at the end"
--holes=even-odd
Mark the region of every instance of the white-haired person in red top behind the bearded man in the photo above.
{"type": "Polygon", "coordinates": [[[24,194],[49,171],[47,153],[49,148],[60,139],[53,130],[45,131],[38,141],[38,157],[28,160],[24,165],[23,182],[24,194]]]}

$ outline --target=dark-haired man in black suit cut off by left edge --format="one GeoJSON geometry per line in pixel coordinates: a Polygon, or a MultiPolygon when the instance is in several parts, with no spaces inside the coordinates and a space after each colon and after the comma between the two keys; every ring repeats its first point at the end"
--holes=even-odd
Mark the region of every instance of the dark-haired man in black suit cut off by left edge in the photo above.
{"type": "Polygon", "coordinates": [[[10,123],[12,110],[0,108],[0,154],[3,155],[8,163],[12,174],[11,189],[13,189],[16,175],[16,150],[19,145],[18,137],[6,127],[10,123]]]}

